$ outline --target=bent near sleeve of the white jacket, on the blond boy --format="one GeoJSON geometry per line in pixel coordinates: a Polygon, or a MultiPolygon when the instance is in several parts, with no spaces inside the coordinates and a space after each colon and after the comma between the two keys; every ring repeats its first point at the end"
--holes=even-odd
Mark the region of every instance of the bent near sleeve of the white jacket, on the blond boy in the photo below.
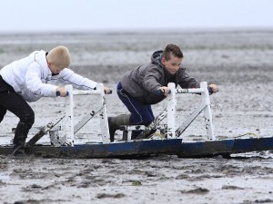
{"type": "Polygon", "coordinates": [[[56,96],[56,85],[42,83],[42,67],[38,63],[31,63],[25,73],[26,88],[35,95],[56,96]]]}

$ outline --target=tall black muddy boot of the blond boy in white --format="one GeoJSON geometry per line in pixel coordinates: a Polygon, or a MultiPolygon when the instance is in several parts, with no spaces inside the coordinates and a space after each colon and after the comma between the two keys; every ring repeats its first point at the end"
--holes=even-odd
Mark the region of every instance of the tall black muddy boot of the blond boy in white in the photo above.
{"type": "Polygon", "coordinates": [[[30,128],[31,127],[25,123],[18,123],[13,142],[13,156],[25,156],[25,139],[30,128]]]}

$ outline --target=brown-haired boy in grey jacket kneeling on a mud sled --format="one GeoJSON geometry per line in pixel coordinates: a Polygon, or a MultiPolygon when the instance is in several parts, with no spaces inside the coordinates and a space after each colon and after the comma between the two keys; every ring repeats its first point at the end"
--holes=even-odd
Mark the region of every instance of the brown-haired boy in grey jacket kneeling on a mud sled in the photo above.
{"type": "MultiPolygon", "coordinates": [[[[182,59],[180,48],[175,44],[167,44],[164,51],[153,53],[150,63],[138,66],[121,78],[117,84],[117,95],[130,114],[109,117],[111,141],[114,141],[115,132],[120,125],[148,126],[154,121],[151,104],[161,102],[167,97],[167,83],[175,83],[181,88],[199,88],[199,83],[182,67],[182,59]]],[[[209,87],[212,92],[218,91],[216,84],[210,84],[209,87]]],[[[136,139],[139,133],[133,131],[131,139],[136,139]]]]}

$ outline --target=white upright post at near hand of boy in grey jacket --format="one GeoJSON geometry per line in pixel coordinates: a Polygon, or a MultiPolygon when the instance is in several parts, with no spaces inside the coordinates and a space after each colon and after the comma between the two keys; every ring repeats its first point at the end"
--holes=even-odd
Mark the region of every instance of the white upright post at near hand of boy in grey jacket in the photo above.
{"type": "Polygon", "coordinates": [[[176,136],[176,84],[168,83],[167,87],[170,90],[167,102],[167,138],[174,138],[176,136]]]}

